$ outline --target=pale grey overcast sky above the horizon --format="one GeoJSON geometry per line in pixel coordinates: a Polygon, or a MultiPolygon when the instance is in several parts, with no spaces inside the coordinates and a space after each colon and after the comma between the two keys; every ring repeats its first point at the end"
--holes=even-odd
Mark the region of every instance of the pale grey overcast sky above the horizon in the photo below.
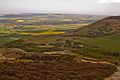
{"type": "Polygon", "coordinates": [[[120,15],[120,0],[0,0],[0,14],[120,15]]]}

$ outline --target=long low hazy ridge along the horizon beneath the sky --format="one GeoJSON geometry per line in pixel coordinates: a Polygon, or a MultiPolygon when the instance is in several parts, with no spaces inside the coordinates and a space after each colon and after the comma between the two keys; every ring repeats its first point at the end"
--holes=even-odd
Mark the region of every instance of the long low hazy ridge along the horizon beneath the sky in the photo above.
{"type": "Polygon", "coordinates": [[[47,18],[93,18],[93,19],[101,19],[105,16],[103,15],[82,15],[82,14],[49,14],[49,13],[22,13],[22,14],[4,14],[0,15],[0,18],[28,18],[28,17],[36,17],[42,16],[47,18]]]}

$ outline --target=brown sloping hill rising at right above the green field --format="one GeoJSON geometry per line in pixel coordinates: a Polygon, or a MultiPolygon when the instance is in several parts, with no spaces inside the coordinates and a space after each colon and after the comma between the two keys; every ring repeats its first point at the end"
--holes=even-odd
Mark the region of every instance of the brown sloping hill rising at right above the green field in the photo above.
{"type": "Polygon", "coordinates": [[[120,33],[120,16],[111,16],[79,28],[72,35],[82,37],[101,37],[120,33]]]}

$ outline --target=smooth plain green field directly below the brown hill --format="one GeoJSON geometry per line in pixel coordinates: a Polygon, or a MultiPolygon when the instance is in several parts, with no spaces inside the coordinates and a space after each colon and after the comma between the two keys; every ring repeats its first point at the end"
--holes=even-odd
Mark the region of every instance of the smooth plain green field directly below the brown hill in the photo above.
{"type": "Polygon", "coordinates": [[[101,38],[81,38],[83,43],[102,49],[120,51],[120,34],[101,38]]]}

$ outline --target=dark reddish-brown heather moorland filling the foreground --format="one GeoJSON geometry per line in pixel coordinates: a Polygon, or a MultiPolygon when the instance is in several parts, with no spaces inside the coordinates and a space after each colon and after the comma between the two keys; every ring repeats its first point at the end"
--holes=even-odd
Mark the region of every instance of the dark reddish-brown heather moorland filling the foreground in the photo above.
{"type": "Polygon", "coordinates": [[[4,62],[0,63],[0,80],[102,80],[115,70],[109,64],[4,62]]]}

